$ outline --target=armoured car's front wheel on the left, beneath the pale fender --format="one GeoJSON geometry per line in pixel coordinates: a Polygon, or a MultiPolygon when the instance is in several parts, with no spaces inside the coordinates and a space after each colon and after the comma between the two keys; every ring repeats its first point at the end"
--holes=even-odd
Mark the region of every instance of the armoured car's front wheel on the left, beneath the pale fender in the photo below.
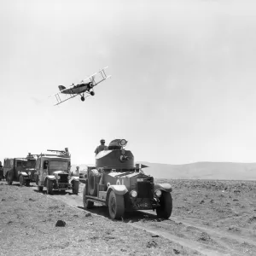
{"type": "Polygon", "coordinates": [[[122,195],[116,195],[113,191],[108,197],[108,213],[110,218],[121,218],[125,213],[125,201],[122,195]]]}

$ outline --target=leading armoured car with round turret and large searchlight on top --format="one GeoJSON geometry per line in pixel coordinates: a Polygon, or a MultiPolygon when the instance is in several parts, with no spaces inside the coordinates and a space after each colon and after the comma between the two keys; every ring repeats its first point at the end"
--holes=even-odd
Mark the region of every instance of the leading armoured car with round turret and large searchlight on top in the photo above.
{"type": "Polygon", "coordinates": [[[96,165],[88,166],[83,191],[84,209],[94,203],[108,207],[110,218],[121,218],[125,212],[156,210],[159,218],[172,214],[172,186],[154,183],[154,177],[143,173],[147,166],[135,165],[127,141],[115,139],[107,150],[96,154],[96,165]]]}

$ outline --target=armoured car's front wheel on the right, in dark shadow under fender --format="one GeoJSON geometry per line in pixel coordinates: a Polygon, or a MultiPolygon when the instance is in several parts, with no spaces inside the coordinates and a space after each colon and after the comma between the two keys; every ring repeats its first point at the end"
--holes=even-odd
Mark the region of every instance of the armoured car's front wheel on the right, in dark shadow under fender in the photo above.
{"type": "Polygon", "coordinates": [[[172,195],[169,192],[162,191],[160,197],[160,207],[156,208],[158,218],[169,218],[172,214],[172,195]]]}

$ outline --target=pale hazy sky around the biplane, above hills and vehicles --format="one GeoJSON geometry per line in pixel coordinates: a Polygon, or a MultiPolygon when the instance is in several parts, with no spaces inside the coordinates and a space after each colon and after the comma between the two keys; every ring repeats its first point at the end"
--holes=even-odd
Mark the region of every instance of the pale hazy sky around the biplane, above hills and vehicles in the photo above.
{"type": "Polygon", "coordinates": [[[256,161],[254,1],[1,1],[4,157],[68,147],[94,163],[101,138],[135,160],[256,161]],[[108,66],[96,96],[49,95],[108,66]]]}

